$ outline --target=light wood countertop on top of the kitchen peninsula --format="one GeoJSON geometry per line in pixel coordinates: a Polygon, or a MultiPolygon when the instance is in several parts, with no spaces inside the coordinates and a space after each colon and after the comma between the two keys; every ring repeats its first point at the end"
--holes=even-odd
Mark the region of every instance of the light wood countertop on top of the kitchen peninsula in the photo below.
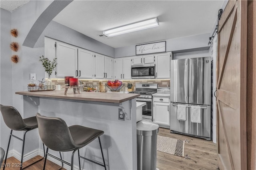
{"type": "Polygon", "coordinates": [[[140,94],[130,93],[100,93],[100,92],[81,92],[80,94],[68,91],[64,94],[63,90],[53,91],[40,91],[40,92],[16,92],[24,96],[44,97],[44,98],[57,98],[57,99],[69,99],[69,100],[84,100],[92,102],[107,102],[107,103],[122,103],[127,100],[134,99],[140,94]]]}

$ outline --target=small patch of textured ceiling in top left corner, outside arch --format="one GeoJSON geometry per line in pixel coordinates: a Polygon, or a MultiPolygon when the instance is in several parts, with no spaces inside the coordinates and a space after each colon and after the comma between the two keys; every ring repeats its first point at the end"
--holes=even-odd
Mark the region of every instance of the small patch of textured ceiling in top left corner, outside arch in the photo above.
{"type": "Polygon", "coordinates": [[[13,12],[28,2],[29,0],[0,0],[0,7],[13,12]]]}

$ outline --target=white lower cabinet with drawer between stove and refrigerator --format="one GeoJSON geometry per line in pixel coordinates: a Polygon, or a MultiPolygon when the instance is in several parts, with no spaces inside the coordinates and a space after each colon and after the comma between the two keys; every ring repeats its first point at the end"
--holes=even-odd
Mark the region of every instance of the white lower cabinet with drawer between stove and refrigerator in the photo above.
{"type": "Polygon", "coordinates": [[[170,98],[153,96],[153,122],[170,126],[170,98]]]}

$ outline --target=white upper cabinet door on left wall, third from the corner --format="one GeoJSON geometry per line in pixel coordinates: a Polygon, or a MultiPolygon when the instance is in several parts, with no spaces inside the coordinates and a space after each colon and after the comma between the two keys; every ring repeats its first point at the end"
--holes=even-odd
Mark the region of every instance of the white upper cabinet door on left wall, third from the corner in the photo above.
{"type": "Polygon", "coordinates": [[[78,78],[93,78],[94,71],[94,53],[78,49],[78,78]]]}

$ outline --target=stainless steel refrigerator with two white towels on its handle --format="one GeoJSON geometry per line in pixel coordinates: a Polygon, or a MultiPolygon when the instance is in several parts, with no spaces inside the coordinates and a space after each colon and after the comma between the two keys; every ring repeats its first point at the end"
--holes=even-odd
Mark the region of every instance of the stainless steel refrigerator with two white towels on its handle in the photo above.
{"type": "Polygon", "coordinates": [[[211,139],[210,90],[211,57],[171,61],[170,131],[172,133],[211,139]],[[198,117],[195,117],[196,115],[198,117]],[[197,123],[195,119],[198,119],[197,123]]]}

